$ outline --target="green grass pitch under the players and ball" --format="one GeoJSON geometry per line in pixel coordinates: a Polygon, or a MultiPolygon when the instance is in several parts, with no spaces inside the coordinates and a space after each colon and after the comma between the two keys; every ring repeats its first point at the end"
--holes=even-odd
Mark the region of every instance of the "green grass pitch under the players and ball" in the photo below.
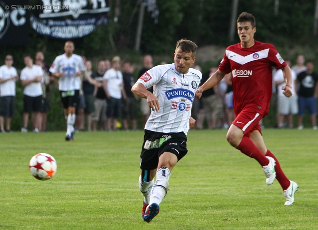
{"type": "Polygon", "coordinates": [[[266,146],[298,183],[284,206],[277,181],[231,147],[226,130],[190,130],[188,154],[172,170],[159,215],[143,222],[138,189],[143,131],[0,134],[0,230],[316,230],[318,131],[264,129],[266,146]],[[45,152],[57,160],[51,180],[28,169],[45,152]]]}

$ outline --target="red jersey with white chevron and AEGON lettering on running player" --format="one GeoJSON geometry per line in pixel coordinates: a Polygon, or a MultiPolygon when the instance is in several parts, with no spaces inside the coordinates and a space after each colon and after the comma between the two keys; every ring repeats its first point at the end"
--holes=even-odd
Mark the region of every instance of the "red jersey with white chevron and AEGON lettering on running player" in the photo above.
{"type": "Polygon", "coordinates": [[[247,107],[267,115],[272,96],[272,66],[276,69],[286,66],[272,44],[254,41],[250,48],[241,48],[240,43],[229,46],[219,66],[223,73],[232,72],[236,115],[247,107]]]}

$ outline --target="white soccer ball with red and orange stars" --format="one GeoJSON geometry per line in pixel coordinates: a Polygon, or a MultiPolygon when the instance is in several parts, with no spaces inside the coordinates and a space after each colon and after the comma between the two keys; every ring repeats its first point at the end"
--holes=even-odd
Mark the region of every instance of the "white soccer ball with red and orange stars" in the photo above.
{"type": "Polygon", "coordinates": [[[41,181],[51,179],[55,175],[57,168],[56,160],[47,153],[36,154],[29,163],[31,174],[41,181]]]}

